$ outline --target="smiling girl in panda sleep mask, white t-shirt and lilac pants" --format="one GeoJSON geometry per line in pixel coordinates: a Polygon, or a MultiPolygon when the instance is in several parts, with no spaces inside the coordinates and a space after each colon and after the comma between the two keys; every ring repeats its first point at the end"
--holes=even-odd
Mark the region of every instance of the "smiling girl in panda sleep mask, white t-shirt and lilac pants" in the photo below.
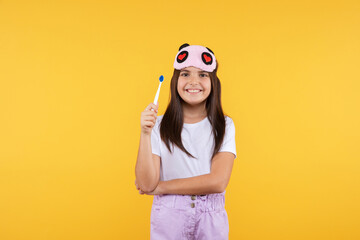
{"type": "Polygon", "coordinates": [[[141,114],[135,185],[154,195],[150,239],[228,239],[235,126],[221,107],[217,65],[209,48],[183,44],[165,114],[152,103],[141,114]]]}

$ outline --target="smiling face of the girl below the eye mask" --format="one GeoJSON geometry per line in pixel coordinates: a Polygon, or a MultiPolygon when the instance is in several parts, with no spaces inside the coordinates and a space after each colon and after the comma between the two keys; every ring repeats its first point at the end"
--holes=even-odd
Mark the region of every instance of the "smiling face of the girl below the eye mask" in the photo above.
{"type": "Polygon", "coordinates": [[[180,71],[177,90],[186,103],[190,105],[202,103],[211,92],[210,75],[196,67],[184,68],[180,71]]]}

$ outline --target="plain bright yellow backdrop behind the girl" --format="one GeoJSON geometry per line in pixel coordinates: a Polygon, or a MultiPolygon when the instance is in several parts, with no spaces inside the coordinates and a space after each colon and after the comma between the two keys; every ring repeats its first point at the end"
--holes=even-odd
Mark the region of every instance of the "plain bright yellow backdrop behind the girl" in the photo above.
{"type": "Polygon", "coordinates": [[[236,126],[230,239],[360,239],[359,1],[0,1],[0,239],[148,239],[140,113],[183,43],[236,126]]]}

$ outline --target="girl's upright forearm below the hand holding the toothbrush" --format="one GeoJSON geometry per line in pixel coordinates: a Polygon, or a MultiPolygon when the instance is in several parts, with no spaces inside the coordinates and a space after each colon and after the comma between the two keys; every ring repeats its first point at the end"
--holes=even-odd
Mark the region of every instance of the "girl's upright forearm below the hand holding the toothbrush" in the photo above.
{"type": "Polygon", "coordinates": [[[136,181],[144,191],[153,190],[159,177],[156,176],[154,161],[151,151],[151,135],[141,134],[139,152],[135,166],[136,181]]]}

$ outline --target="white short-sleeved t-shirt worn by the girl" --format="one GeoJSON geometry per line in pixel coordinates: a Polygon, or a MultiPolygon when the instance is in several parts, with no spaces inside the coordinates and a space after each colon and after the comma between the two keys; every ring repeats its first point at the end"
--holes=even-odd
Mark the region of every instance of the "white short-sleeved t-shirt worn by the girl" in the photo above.
{"type": "MultiPolygon", "coordinates": [[[[197,158],[195,159],[186,155],[172,143],[170,143],[172,153],[169,152],[160,137],[160,122],[163,116],[157,117],[155,126],[151,131],[152,153],[161,157],[160,181],[210,173],[215,141],[209,119],[206,117],[200,122],[184,123],[183,125],[181,132],[182,143],[185,149],[197,158]]],[[[219,152],[231,152],[236,158],[235,125],[230,117],[225,116],[225,120],[225,136],[219,152]]]]}

